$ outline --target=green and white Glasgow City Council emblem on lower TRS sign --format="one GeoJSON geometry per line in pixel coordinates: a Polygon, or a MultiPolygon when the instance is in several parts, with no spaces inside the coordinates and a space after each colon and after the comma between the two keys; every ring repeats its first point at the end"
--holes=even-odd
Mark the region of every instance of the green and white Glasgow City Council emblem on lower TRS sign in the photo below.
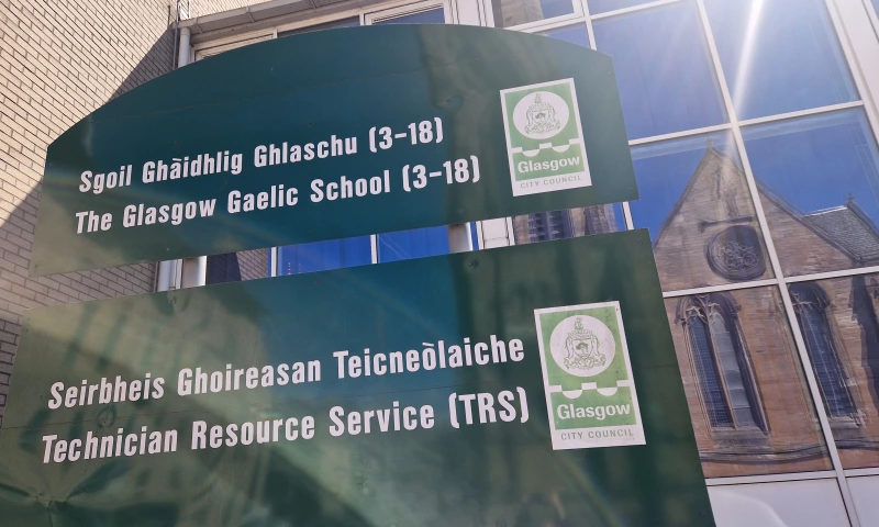
{"type": "Polygon", "coordinates": [[[645,445],[619,302],[534,310],[554,450],[645,445]]]}

